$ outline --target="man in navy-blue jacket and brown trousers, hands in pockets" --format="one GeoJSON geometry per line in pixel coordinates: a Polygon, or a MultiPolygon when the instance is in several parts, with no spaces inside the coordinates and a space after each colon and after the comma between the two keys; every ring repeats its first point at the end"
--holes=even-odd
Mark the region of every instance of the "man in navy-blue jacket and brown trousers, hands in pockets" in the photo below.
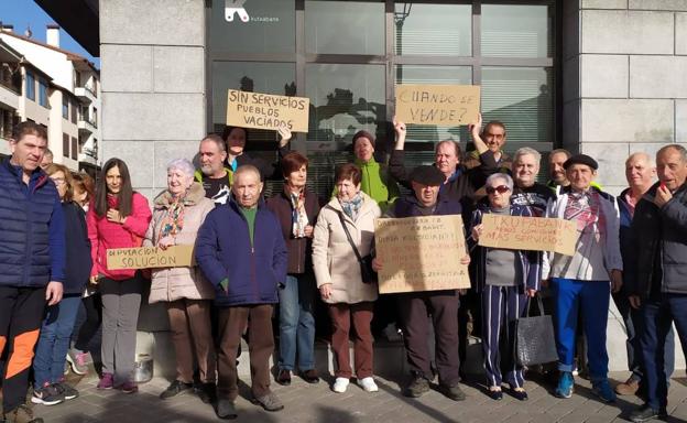
{"type": "Polygon", "coordinates": [[[231,198],[207,215],[198,231],[196,260],[215,285],[219,307],[217,357],[217,414],[237,416],[236,358],[241,334],[250,318],[248,339],[254,402],[268,411],[284,408],[270,391],[270,355],[274,349],[272,310],[276,289],[286,280],[288,261],[282,228],[261,197],[260,171],[237,169],[231,198]]]}

